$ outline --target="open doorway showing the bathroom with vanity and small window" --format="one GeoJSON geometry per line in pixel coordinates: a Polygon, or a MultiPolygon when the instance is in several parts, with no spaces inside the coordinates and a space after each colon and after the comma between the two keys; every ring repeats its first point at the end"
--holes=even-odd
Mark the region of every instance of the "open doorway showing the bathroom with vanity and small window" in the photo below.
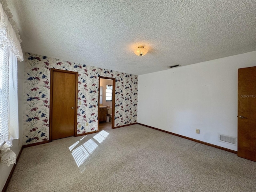
{"type": "Polygon", "coordinates": [[[99,77],[98,131],[114,128],[116,79],[99,77]]]}

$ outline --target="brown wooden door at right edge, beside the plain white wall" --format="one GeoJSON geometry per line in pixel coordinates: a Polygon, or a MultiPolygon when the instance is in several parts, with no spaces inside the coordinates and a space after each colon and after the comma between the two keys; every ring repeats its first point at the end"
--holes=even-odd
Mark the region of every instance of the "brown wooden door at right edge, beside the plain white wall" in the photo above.
{"type": "Polygon", "coordinates": [[[238,151],[256,161],[256,67],[238,69],[238,151]]]}

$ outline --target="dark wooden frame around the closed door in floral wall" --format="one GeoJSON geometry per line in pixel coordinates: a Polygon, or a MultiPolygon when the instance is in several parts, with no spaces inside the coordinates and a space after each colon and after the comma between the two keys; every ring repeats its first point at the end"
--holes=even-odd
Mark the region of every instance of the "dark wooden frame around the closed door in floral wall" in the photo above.
{"type": "Polygon", "coordinates": [[[78,102],[78,72],[68,71],[68,70],[60,70],[51,68],[50,74],[50,114],[49,114],[49,141],[52,142],[52,91],[53,91],[53,72],[61,72],[61,73],[70,73],[76,75],[76,94],[75,94],[75,121],[74,121],[74,136],[77,136],[77,102],[78,102]]]}

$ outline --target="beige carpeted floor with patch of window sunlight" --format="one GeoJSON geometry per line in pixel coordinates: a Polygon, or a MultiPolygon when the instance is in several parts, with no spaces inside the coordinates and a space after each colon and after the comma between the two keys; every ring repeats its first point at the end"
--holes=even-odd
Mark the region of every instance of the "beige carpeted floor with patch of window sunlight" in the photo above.
{"type": "Polygon", "coordinates": [[[7,192],[255,192],[256,162],[140,125],[24,148],[7,192]]]}

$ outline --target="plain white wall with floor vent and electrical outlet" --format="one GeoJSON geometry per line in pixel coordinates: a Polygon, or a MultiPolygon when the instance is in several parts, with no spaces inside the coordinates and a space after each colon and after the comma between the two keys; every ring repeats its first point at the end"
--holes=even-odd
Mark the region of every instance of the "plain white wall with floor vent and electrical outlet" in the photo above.
{"type": "Polygon", "coordinates": [[[138,76],[138,123],[237,151],[218,133],[237,137],[238,68],[251,66],[256,51],[138,76]]]}

